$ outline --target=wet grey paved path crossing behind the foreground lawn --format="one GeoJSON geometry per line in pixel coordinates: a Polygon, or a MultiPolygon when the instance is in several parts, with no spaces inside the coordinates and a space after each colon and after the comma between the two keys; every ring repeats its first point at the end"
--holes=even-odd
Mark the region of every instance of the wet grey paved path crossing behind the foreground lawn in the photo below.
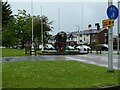
{"type": "MultiPolygon", "coordinates": [[[[85,54],[85,55],[39,55],[39,56],[19,56],[19,57],[2,57],[2,62],[18,61],[48,61],[48,60],[75,60],[79,62],[95,64],[98,66],[108,67],[108,54],[85,54]]],[[[120,66],[120,55],[113,55],[113,67],[118,69],[120,66]]]]}

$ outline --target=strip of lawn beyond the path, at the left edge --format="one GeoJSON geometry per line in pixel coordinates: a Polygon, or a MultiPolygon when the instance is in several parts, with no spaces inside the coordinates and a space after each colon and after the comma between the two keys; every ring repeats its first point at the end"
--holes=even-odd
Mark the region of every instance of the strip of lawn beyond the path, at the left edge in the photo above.
{"type": "Polygon", "coordinates": [[[2,57],[7,56],[26,56],[26,54],[22,49],[2,48],[2,57]]]}

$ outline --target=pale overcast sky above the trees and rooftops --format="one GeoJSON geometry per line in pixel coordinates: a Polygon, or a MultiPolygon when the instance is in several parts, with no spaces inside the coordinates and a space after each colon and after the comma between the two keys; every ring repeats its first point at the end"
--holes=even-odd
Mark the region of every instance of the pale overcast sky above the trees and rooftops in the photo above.
{"type": "MultiPolygon", "coordinates": [[[[6,1],[6,0],[4,0],[6,1]]],[[[102,20],[108,19],[107,8],[108,0],[7,0],[13,11],[18,13],[18,9],[25,9],[27,13],[32,14],[31,1],[33,4],[33,15],[45,15],[50,21],[53,21],[53,31],[55,35],[59,31],[72,32],[88,29],[88,24],[95,28],[95,23],[100,23],[102,28],[102,20]],[[97,1],[97,2],[96,2],[97,1]],[[59,28],[60,27],[60,28],[59,28]]],[[[117,6],[116,0],[114,5],[117,6]]],[[[115,20],[113,34],[117,34],[117,20],[115,20]]]]}

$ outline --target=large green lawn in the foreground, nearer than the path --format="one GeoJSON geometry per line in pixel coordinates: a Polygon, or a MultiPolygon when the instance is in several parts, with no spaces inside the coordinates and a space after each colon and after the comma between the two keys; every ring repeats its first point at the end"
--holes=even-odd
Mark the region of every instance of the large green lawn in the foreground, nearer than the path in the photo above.
{"type": "Polygon", "coordinates": [[[76,61],[25,61],[2,64],[4,88],[96,88],[118,85],[118,71],[76,61]]]}

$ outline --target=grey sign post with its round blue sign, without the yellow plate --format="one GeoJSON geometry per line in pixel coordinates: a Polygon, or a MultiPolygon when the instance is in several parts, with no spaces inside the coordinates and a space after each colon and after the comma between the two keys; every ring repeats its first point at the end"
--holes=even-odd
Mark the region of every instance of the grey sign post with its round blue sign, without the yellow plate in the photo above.
{"type": "MultiPolygon", "coordinates": [[[[112,5],[113,0],[108,0],[108,9],[107,15],[110,19],[116,19],[118,17],[118,9],[112,5]]],[[[113,27],[108,27],[108,69],[109,71],[113,71],[113,27]]]]}

